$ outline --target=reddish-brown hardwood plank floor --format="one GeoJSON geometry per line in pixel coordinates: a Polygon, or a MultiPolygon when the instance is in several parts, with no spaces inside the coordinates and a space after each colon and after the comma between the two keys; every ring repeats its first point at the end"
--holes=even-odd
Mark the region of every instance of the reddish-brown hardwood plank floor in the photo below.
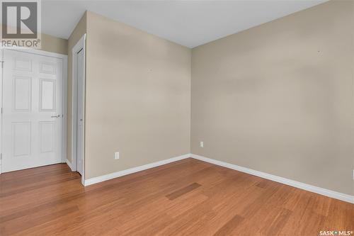
{"type": "Polygon", "coordinates": [[[354,231],[353,204],[195,159],[85,188],[55,164],[1,174],[0,188],[1,236],[354,231]]]}

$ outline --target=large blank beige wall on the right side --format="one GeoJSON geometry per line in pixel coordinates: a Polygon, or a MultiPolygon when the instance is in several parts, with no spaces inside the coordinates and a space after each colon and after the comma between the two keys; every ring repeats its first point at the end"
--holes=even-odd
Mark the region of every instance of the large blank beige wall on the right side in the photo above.
{"type": "Polygon", "coordinates": [[[353,195],[353,16],[330,1],[194,48],[193,154],[353,195]]]}

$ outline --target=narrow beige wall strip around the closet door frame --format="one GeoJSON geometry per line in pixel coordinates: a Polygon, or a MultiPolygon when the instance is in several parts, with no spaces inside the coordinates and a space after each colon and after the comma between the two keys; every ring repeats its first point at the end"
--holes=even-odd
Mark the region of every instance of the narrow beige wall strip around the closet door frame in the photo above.
{"type": "Polygon", "coordinates": [[[68,39],[68,73],[67,73],[67,159],[72,162],[72,48],[86,33],[86,13],[72,31],[68,39]]]}

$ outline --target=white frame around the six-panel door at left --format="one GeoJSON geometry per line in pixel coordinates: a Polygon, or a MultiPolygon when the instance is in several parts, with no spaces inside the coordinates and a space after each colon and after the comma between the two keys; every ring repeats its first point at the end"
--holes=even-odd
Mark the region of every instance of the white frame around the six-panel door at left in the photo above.
{"type": "MultiPolygon", "coordinates": [[[[62,69],[63,69],[63,82],[62,82],[62,162],[65,163],[67,160],[67,55],[62,55],[56,52],[47,52],[42,50],[37,50],[33,48],[1,48],[0,50],[0,58],[1,58],[1,68],[0,68],[0,106],[1,106],[1,116],[0,116],[0,152],[2,153],[2,140],[3,140],[3,118],[2,118],[2,108],[3,108],[3,63],[4,62],[4,50],[14,50],[20,52],[26,52],[34,55],[40,55],[45,57],[55,57],[57,59],[62,60],[62,69]]],[[[1,162],[2,162],[2,154],[0,156],[0,174],[1,174],[1,162]]]]}

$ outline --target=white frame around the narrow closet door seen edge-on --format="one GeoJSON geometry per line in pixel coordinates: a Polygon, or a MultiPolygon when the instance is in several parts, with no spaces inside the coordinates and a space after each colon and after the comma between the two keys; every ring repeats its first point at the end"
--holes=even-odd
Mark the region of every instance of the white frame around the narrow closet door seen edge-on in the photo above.
{"type": "Polygon", "coordinates": [[[84,34],[80,40],[76,43],[76,45],[72,48],[72,171],[76,172],[77,167],[76,167],[76,161],[77,161],[77,147],[76,147],[76,140],[77,140],[77,135],[82,136],[83,140],[83,157],[82,157],[82,176],[81,176],[81,184],[84,185],[85,181],[85,84],[86,84],[86,51],[85,51],[85,42],[86,42],[86,34],[84,34]],[[77,134],[77,127],[76,127],[76,119],[77,119],[77,53],[81,50],[84,50],[84,72],[83,72],[83,86],[84,89],[83,95],[84,98],[82,99],[84,106],[83,106],[83,117],[84,117],[84,128],[81,134],[77,134]]]}

